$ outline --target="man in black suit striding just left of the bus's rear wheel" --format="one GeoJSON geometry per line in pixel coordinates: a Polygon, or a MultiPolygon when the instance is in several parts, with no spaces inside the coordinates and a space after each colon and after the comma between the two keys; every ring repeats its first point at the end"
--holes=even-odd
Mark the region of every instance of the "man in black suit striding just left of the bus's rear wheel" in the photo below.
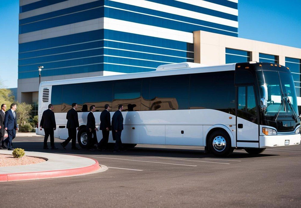
{"type": "Polygon", "coordinates": [[[72,109],[70,109],[67,112],[66,119],[68,120],[67,129],[68,129],[69,137],[64,142],[61,143],[64,149],[66,149],[66,145],[70,142],[71,139],[72,139],[71,149],[72,150],[79,149],[78,147],[76,147],[76,130],[79,130],[79,122],[78,122],[78,115],[76,109],[77,109],[77,104],[72,103],[72,109]]]}

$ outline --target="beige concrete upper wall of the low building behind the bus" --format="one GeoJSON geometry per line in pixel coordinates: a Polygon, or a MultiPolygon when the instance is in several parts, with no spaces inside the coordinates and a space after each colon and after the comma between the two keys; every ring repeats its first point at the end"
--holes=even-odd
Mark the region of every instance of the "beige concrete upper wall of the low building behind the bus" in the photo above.
{"type": "Polygon", "coordinates": [[[279,64],[285,66],[285,57],[301,59],[301,49],[262,41],[194,31],[194,62],[209,66],[226,63],[226,48],[251,52],[251,61],[259,61],[259,53],[279,56],[279,64]]]}

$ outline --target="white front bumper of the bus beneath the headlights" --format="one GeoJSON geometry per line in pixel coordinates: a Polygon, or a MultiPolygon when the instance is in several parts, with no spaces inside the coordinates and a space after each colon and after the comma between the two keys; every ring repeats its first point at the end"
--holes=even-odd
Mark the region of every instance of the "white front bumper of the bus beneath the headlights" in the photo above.
{"type": "Polygon", "coordinates": [[[298,145],[300,139],[300,134],[259,136],[259,145],[260,148],[298,145]]]}

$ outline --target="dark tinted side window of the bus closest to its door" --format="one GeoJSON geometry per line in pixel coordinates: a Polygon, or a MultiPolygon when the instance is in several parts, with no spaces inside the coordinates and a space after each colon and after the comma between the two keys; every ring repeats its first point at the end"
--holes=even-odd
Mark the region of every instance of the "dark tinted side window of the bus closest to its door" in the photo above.
{"type": "Polygon", "coordinates": [[[189,109],[216,109],[235,115],[234,71],[191,74],[189,109]]]}

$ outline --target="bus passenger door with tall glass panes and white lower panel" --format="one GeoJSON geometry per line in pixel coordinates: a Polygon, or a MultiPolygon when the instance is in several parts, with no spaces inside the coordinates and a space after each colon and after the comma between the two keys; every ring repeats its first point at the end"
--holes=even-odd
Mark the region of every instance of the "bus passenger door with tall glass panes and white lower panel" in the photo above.
{"type": "Polygon", "coordinates": [[[258,110],[254,86],[237,86],[237,147],[259,147],[258,110]]]}

